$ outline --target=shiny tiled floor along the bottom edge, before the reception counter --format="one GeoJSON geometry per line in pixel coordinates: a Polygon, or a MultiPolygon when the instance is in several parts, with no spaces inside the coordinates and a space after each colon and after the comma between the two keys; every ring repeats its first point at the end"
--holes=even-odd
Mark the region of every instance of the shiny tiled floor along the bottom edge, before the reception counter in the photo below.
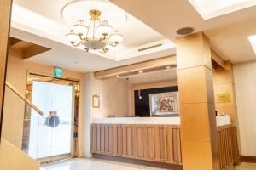
{"type": "MultiPolygon", "coordinates": [[[[117,161],[104,161],[98,159],[73,159],[51,163],[41,170],[164,170],[162,168],[134,165],[117,161]]],[[[235,170],[256,170],[256,164],[241,163],[235,170]]]]}

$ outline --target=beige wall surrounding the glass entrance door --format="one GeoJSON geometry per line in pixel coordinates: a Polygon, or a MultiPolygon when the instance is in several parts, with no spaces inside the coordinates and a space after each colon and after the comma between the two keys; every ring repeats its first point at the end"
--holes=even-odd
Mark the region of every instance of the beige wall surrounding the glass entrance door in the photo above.
{"type": "MultiPolygon", "coordinates": [[[[42,74],[53,75],[54,69],[49,65],[39,65],[21,59],[20,51],[12,50],[9,54],[7,81],[17,88],[21,94],[26,94],[26,74],[27,71],[36,71],[42,74]]],[[[74,71],[63,70],[63,77],[70,77],[80,80],[79,97],[79,120],[84,120],[84,81],[83,74],[74,71]]],[[[4,114],[3,114],[3,138],[11,144],[21,148],[23,133],[23,116],[25,104],[8,88],[6,88],[4,114]]],[[[83,124],[79,121],[79,156],[82,156],[83,150],[83,124]]]]}

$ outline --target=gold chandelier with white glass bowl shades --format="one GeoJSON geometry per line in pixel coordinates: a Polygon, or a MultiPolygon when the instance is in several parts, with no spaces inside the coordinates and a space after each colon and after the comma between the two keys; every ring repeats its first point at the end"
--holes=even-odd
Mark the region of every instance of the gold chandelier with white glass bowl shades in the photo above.
{"type": "Polygon", "coordinates": [[[100,19],[100,10],[91,9],[89,14],[88,25],[84,24],[84,20],[78,20],[66,35],[73,47],[83,47],[86,52],[94,49],[107,53],[109,48],[116,47],[122,42],[123,36],[119,31],[113,30],[113,26],[110,26],[107,20],[100,19]]]}

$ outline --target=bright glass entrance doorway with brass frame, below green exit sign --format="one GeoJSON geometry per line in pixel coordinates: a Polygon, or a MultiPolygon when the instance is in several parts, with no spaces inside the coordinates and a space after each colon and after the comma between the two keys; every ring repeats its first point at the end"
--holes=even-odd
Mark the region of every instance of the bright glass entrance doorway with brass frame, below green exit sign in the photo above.
{"type": "Polygon", "coordinates": [[[26,108],[22,149],[41,163],[72,158],[77,142],[79,82],[29,73],[26,97],[44,116],[26,108]]]}

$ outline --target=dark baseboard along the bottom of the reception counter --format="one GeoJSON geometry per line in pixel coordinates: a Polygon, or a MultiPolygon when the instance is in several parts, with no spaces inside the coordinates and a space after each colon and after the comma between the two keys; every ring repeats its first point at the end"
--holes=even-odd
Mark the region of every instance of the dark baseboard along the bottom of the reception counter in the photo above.
{"type": "Polygon", "coordinates": [[[131,158],[125,158],[125,157],[119,157],[119,156],[106,156],[101,154],[93,154],[92,156],[98,159],[104,159],[108,161],[122,161],[126,163],[134,163],[138,165],[160,167],[160,168],[166,168],[166,169],[172,169],[172,170],[183,169],[182,165],[174,165],[174,164],[164,163],[164,162],[143,161],[143,160],[137,160],[137,159],[131,159],[131,158]]]}

